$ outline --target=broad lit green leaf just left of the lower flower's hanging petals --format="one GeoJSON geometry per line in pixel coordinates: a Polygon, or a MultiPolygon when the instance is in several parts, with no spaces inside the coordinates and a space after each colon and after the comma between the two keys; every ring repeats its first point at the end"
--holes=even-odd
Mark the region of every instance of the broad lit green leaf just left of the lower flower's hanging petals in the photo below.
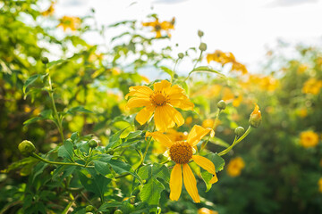
{"type": "Polygon", "coordinates": [[[164,191],[165,186],[162,185],[157,179],[149,179],[148,183],[143,185],[140,191],[140,199],[142,202],[157,205],[161,192],[164,191]]]}

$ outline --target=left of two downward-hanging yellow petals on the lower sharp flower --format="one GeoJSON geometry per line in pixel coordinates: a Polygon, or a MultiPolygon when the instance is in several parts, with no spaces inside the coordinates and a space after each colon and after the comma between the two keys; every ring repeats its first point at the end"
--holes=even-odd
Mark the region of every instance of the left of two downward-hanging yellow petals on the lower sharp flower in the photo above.
{"type": "Polygon", "coordinates": [[[170,199],[178,201],[182,192],[181,164],[175,164],[170,176],[170,199]]]}

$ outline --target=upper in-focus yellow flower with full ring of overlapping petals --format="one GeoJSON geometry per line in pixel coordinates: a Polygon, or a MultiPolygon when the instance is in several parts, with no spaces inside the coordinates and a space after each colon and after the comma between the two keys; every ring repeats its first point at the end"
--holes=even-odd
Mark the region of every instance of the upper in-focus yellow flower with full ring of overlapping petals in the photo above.
{"type": "Polygon", "coordinates": [[[136,120],[143,125],[151,118],[154,113],[154,120],[158,131],[166,131],[173,128],[176,124],[182,126],[184,119],[179,111],[174,107],[182,110],[193,110],[193,103],[184,95],[181,86],[171,86],[167,80],[154,84],[154,90],[148,86],[131,86],[130,93],[125,96],[131,97],[126,104],[127,108],[145,107],[136,116],[136,120]]]}

